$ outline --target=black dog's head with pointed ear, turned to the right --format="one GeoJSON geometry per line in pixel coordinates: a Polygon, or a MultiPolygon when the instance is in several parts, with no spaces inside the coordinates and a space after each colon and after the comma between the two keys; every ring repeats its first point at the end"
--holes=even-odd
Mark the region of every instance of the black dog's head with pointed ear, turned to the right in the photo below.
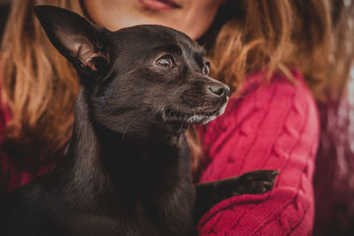
{"type": "Polygon", "coordinates": [[[225,110],[229,88],[208,76],[204,49],[186,34],[148,25],[111,32],[53,6],[37,6],[35,14],[78,71],[102,125],[119,132],[127,128],[122,119],[180,127],[225,110]]]}

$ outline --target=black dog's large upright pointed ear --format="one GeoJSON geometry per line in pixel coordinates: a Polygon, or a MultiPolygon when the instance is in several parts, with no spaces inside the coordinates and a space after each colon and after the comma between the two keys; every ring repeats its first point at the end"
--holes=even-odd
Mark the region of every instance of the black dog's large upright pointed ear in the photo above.
{"type": "Polygon", "coordinates": [[[55,6],[36,6],[35,15],[50,42],[73,63],[78,72],[98,71],[108,65],[104,40],[106,29],[93,25],[72,11],[55,6]]]}

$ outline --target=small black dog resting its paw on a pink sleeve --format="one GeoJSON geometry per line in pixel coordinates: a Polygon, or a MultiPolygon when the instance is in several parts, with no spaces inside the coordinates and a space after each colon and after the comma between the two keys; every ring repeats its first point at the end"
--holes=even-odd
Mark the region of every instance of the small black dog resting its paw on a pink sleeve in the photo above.
{"type": "Polygon", "coordinates": [[[277,171],[193,185],[184,131],[219,116],[229,88],[207,76],[188,36],[110,32],[50,6],[35,13],[82,89],[65,159],[12,194],[0,235],[191,235],[213,204],[273,186],[277,171]]]}

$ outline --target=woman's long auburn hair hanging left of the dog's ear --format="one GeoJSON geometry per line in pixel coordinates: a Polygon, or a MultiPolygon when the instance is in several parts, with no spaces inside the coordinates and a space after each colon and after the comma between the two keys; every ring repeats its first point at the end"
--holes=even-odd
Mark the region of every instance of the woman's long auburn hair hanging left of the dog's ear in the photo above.
{"type": "Polygon", "coordinates": [[[12,0],[4,30],[1,64],[3,106],[12,119],[4,132],[4,148],[12,157],[51,156],[70,137],[76,73],[47,39],[33,12],[50,4],[81,13],[78,1],[12,0]]]}

